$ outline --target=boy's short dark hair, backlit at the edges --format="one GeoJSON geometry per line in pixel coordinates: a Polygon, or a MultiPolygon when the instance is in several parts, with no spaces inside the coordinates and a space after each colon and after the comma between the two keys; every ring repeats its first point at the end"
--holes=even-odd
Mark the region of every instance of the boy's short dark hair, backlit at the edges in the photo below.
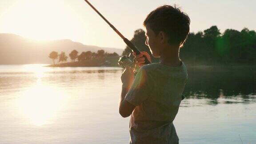
{"type": "Polygon", "coordinates": [[[190,19],[176,6],[163,5],[148,14],[143,25],[148,25],[155,34],[160,31],[168,36],[169,44],[181,44],[188,36],[190,19]]]}

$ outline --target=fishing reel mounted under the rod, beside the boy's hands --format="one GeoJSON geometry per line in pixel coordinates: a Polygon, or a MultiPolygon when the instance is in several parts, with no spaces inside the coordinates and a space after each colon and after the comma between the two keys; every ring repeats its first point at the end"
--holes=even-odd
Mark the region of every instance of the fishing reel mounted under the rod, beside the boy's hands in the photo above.
{"type": "Polygon", "coordinates": [[[118,60],[118,65],[122,68],[125,68],[126,66],[129,66],[131,68],[136,68],[136,64],[134,61],[134,56],[132,56],[132,53],[128,53],[124,56],[121,56],[118,60]]]}

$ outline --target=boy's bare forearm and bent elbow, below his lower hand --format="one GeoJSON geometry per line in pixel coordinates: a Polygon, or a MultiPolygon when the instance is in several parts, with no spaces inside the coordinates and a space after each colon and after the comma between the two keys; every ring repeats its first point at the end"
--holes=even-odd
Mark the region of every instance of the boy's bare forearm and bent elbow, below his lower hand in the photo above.
{"type": "Polygon", "coordinates": [[[126,86],[124,84],[122,85],[122,92],[119,100],[119,113],[123,117],[130,116],[132,114],[132,111],[136,107],[124,99],[129,89],[130,89],[130,86],[126,86]]]}

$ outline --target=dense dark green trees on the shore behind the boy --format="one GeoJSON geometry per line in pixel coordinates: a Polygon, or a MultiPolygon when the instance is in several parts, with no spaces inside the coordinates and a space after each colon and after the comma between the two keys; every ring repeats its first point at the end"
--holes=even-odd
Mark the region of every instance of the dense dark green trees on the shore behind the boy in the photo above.
{"type": "MultiPolygon", "coordinates": [[[[150,53],[145,40],[144,30],[137,29],[131,41],[141,51],[150,53]]],[[[123,54],[128,52],[131,50],[126,47],[123,54]]],[[[221,33],[217,26],[191,32],[180,48],[180,57],[190,64],[256,64],[256,32],[244,28],[241,31],[226,29],[221,33]]],[[[152,61],[159,59],[152,57],[152,61]]]]}

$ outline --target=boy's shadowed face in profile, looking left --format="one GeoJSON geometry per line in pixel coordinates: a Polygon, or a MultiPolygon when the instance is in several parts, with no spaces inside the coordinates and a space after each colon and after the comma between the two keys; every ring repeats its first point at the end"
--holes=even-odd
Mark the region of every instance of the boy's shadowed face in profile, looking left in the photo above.
{"type": "Polygon", "coordinates": [[[145,44],[149,47],[150,52],[152,53],[152,56],[154,57],[160,57],[160,41],[158,36],[155,35],[155,32],[149,28],[148,25],[146,25],[146,42],[145,44]]]}

